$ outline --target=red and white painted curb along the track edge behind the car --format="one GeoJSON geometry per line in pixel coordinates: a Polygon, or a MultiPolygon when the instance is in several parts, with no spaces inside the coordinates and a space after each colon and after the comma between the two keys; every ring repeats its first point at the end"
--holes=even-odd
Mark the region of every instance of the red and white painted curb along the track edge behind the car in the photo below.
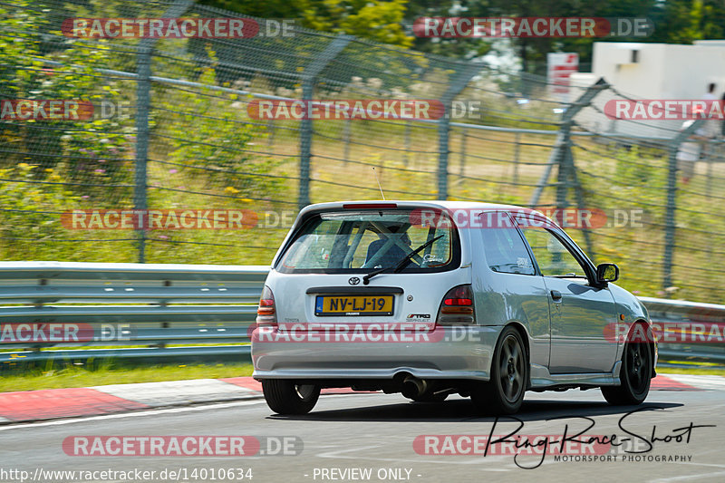
{"type": "MultiPolygon", "coordinates": [[[[725,390],[725,378],[659,374],[652,381],[651,389],[652,391],[725,390]]],[[[0,424],[258,399],[262,396],[261,391],[261,384],[251,377],[234,377],[3,392],[0,393],[0,424]]],[[[328,389],[324,390],[323,394],[353,392],[355,391],[350,389],[328,389]]]]}

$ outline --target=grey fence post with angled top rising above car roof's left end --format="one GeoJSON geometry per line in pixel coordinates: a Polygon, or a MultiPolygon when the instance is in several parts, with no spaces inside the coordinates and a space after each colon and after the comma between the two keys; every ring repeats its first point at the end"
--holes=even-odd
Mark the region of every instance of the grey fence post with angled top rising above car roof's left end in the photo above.
{"type": "MultiPolygon", "coordinates": [[[[302,99],[311,101],[314,94],[314,80],[338,53],[353,40],[352,35],[338,35],[327,45],[302,74],[302,99]]],[[[310,204],[310,157],[312,152],[312,120],[304,116],[300,121],[300,189],[297,205],[300,209],[310,204]]]]}

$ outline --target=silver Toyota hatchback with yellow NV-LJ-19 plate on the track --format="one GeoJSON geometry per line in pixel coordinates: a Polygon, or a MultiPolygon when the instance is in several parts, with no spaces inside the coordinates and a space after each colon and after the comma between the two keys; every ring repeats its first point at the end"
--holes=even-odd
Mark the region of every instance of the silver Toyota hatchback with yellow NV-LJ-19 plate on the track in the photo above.
{"type": "Polygon", "coordinates": [[[491,414],[518,411],[526,391],[601,388],[613,404],[639,404],[657,344],[618,275],[528,208],[312,205],[267,276],[254,377],[281,414],[339,387],[413,401],[459,393],[491,414]]]}

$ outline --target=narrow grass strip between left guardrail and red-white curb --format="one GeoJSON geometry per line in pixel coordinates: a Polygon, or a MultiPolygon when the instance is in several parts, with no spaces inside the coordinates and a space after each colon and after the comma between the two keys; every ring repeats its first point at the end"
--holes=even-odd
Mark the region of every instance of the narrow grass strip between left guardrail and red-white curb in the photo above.
{"type": "Polygon", "coordinates": [[[138,368],[102,367],[89,371],[69,367],[55,371],[34,371],[0,376],[0,392],[78,388],[131,382],[162,382],[216,379],[252,375],[251,364],[159,365],[138,368]]]}

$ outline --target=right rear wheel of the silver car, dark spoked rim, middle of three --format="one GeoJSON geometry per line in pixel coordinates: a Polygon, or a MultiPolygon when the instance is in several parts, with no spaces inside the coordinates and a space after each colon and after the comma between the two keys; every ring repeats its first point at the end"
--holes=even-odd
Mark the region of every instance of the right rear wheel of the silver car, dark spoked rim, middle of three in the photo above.
{"type": "Polygon", "coordinates": [[[491,362],[491,379],[478,383],[470,399],[479,411],[514,414],[521,409],[528,383],[528,361],[521,334],[507,326],[498,337],[491,362]]]}

